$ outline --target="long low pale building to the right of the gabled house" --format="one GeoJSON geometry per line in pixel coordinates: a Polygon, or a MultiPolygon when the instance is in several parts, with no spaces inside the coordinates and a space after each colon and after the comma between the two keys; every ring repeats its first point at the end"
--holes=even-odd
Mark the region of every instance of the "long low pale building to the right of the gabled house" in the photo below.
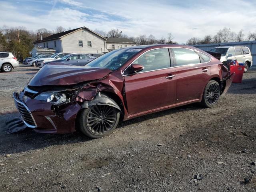
{"type": "Polygon", "coordinates": [[[106,38],[107,38],[106,49],[108,51],[136,45],[135,41],[130,40],[128,38],[113,38],[113,37],[106,37],[106,38]]]}

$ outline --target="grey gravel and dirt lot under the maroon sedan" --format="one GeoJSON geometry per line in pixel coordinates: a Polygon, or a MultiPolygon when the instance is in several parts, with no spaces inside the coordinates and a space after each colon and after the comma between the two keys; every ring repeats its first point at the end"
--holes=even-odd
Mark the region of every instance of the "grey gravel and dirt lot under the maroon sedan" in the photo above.
{"type": "MultiPolygon", "coordinates": [[[[12,91],[36,70],[0,73],[0,112],[14,110],[12,91]]],[[[0,116],[0,191],[256,191],[255,70],[214,108],[150,114],[101,139],[30,129],[7,135],[5,121],[15,116],[0,116]]]]}

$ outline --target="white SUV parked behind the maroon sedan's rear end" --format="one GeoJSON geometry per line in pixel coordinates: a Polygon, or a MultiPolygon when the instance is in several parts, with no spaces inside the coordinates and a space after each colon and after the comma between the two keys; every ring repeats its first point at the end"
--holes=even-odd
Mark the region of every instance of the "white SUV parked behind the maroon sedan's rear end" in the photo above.
{"type": "Polygon", "coordinates": [[[252,54],[250,49],[246,46],[215,47],[210,51],[220,53],[221,62],[236,59],[239,65],[244,65],[244,72],[247,72],[248,68],[252,66],[252,54]]]}

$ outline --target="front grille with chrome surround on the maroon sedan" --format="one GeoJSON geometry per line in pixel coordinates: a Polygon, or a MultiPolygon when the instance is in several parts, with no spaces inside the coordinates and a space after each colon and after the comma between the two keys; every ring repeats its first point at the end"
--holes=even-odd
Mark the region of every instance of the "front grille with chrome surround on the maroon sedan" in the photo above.
{"type": "Polygon", "coordinates": [[[14,98],[14,102],[16,105],[16,108],[18,109],[22,120],[24,121],[24,123],[26,124],[26,126],[30,127],[30,128],[36,128],[36,123],[34,121],[34,118],[30,112],[30,110],[28,109],[28,107],[19,100],[19,96],[18,93],[14,92],[13,93],[13,98],[14,98]]]}

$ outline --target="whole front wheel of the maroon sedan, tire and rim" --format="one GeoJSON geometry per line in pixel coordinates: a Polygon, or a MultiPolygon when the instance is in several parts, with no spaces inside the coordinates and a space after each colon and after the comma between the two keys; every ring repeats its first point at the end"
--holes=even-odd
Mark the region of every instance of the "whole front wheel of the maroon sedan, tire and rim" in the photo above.
{"type": "Polygon", "coordinates": [[[120,118],[118,109],[108,105],[93,105],[83,109],[78,117],[78,126],[90,138],[111,134],[120,118]]]}

